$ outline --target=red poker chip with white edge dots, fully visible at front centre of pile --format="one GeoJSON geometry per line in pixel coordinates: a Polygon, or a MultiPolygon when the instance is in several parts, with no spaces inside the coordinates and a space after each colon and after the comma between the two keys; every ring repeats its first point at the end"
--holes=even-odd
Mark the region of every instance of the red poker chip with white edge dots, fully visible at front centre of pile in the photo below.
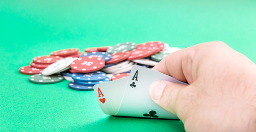
{"type": "Polygon", "coordinates": [[[86,56],[76,59],[71,65],[72,70],[79,73],[91,73],[100,70],[104,67],[105,61],[103,58],[86,56]]]}

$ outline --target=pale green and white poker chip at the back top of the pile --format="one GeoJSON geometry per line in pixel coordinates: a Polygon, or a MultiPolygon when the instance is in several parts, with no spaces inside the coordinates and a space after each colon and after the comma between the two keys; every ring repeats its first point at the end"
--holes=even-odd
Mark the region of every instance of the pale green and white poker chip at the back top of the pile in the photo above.
{"type": "Polygon", "coordinates": [[[106,52],[112,54],[112,53],[117,53],[117,52],[122,52],[122,51],[131,51],[136,48],[136,43],[132,42],[126,42],[126,43],[118,43],[112,47],[109,47],[106,52]]]}

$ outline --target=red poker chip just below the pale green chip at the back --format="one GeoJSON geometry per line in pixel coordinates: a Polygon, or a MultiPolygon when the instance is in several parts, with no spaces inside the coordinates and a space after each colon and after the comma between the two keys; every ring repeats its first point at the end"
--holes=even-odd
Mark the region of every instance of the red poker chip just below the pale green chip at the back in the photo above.
{"type": "Polygon", "coordinates": [[[113,54],[111,54],[111,59],[108,62],[106,62],[106,64],[118,63],[118,62],[124,61],[125,59],[127,59],[130,56],[131,56],[131,52],[129,52],[129,51],[113,53],[113,54]]]}

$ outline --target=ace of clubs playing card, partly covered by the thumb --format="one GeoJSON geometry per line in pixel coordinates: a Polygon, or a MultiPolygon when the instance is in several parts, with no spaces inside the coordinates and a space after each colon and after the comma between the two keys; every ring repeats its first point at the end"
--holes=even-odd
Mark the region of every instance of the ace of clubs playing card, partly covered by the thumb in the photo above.
{"type": "Polygon", "coordinates": [[[156,70],[134,65],[116,116],[178,119],[177,116],[167,112],[152,101],[149,89],[150,85],[157,80],[188,85],[156,70]]]}

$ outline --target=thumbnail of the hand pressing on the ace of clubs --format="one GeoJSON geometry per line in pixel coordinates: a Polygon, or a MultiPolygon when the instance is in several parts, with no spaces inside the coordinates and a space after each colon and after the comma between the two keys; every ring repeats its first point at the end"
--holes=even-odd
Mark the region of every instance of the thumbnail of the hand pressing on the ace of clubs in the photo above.
{"type": "Polygon", "coordinates": [[[158,101],[162,96],[166,83],[163,81],[154,81],[150,86],[150,96],[154,101],[158,101]]]}

